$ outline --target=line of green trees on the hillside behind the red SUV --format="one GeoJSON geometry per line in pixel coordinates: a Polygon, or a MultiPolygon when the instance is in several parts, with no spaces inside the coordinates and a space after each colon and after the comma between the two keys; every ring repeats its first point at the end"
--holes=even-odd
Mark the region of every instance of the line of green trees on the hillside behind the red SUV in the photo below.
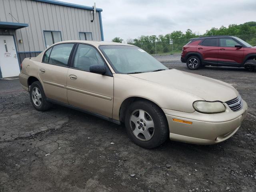
{"type": "Polygon", "coordinates": [[[173,31],[166,35],[142,35],[138,38],[128,38],[124,41],[120,37],[115,37],[112,42],[123,42],[127,44],[136,45],[150,54],[154,54],[157,50],[158,53],[179,53],[182,50],[182,46],[188,43],[190,38],[196,38],[199,36],[212,36],[212,35],[230,35],[237,36],[242,40],[248,42],[252,46],[256,46],[256,22],[246,22],[244,24],[230,24],[228,27],[221,26],[220,28],[211,28],[206,30],[206,33],[200,35],[192,32],[188,29],[185,33],[182,31],[173,31]],[[170,40],[173,44],[170,45],[170,40]]]}

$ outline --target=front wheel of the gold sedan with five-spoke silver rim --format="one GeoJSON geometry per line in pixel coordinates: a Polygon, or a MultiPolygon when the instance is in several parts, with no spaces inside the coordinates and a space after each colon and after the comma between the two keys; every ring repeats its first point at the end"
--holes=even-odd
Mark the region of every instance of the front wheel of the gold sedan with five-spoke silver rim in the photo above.
{"type": "Polygon", "coordinates": [[[125,128],[129,138],[135,144],[148,149],[160,146],[169,136],[165,114],[156,104],[149,101],[136,101],[127,108],[125,128]]]}

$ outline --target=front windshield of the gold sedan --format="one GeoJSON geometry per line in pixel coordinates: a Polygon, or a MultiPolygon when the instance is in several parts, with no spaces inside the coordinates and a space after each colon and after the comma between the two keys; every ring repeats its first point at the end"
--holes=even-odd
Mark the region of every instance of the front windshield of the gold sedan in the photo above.
{"type": "Polygon", "coordinates": [[[102,45],[100,50],[116,73],[132,74],[168,69],[146,51],[135,46],[102,45]]]}

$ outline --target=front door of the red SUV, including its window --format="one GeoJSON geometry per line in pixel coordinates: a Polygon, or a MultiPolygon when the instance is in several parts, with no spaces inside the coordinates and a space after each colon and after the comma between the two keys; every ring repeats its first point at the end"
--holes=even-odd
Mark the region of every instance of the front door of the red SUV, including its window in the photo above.
{"type": "Polygon", "coordinates": [[[220,38],[218,50],[219,64],[242,64],[244,59],[244,48],[236,48],[238,44],[232,38],[220,38]]]}

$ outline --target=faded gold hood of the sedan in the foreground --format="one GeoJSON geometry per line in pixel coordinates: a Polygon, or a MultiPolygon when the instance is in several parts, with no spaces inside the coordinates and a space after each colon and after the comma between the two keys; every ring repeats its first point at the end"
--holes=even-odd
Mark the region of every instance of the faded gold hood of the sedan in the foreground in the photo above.
{"type": "Polygon", "coordinates": [[[207,101],[226,102],[238,96],[238,92],[230,84],[176,69],[130,74],[130,76],[182,90],[207,101]]]}

